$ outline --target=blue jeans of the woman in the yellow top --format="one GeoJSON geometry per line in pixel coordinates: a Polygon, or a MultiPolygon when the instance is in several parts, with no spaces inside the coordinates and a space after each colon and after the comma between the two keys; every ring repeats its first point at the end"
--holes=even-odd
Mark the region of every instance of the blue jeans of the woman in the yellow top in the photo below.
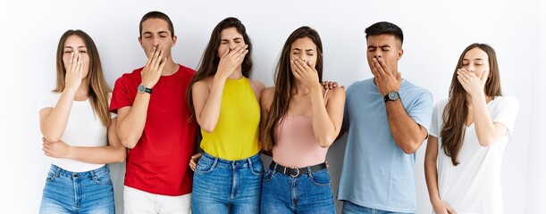
{"type": "Polygon", "coordinates": [[[193,175],[191,210],[194,214],[259,213],[263,176],[259,153],[227,161],[204,152],[193,175]]]}

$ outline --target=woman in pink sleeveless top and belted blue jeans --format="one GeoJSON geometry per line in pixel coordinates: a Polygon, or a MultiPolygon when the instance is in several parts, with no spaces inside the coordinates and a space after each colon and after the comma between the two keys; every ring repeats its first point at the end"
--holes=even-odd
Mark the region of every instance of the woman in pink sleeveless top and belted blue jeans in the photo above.
{"type": "Polygon", "coordinates": [[[323,45],[315,29],[288,37],[275,86],[262,93],[262,143],[273,162],[262,184],[262,213],[334,213],[326,152],[340,132],[345,90],[321,85],[323,45]]]}

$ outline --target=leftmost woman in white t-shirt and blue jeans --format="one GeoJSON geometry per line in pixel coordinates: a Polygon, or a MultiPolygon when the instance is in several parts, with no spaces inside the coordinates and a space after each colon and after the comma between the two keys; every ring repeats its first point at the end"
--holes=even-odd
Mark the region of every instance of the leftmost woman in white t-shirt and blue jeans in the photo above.
{"type": "Polygon", "coordinates": [[[57,84],[39,102],[43,151],[52,157],[39,213],[114,213],[107,163],[125,160],[108,111],[97,46],[81,30],[66,31],[57,46],[57,84]]]}

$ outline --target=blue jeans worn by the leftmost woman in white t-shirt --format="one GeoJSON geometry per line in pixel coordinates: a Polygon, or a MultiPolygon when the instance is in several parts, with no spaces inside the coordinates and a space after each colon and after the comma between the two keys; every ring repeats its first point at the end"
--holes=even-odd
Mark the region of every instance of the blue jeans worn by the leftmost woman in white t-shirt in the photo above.
{"type": "Polygon", "coordinates": [[[108,166],[74,173],[51,165],[39,213],[114,213],[108,166]]]}

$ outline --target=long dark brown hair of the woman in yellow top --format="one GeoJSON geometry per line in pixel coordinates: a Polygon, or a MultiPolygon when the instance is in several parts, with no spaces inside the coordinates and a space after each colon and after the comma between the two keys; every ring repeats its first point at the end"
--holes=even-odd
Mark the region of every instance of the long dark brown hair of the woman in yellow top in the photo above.
{"type": "Polygon", "coordinates": [[[245,44],[248,45],[248,53],[245,56],[245,59],[241,63],[240,67],[241,72],[245,78],[250,78],[250,75],[252,75],[252,43],[250,42],[250,37],[248,37],[247,29],[245,28],[243,23],[240,22],[237,18],[225,18],[223,21],[220,21],[220,23],[218,23],[216,27],[214,27],[210,39],[208,40],[208,44],[206,45],[205,53],[203,53],[201,62],[199,62],[199,68],[197,69],[197,72],[193,76],[193,78],[191,78],[188,90],[186,90],[186,103],[188,103],[188,110],[190,114],[189,121],[191,121],[195,116],[195,109],[193,108],[192,86],[196,82],[216,74],[216,70],[218,70],[218,63],[220,63],[220,56],[218,56],[218,47],[220,47],[220,44],[222,43],[221,33],[223,29],[230,28],[237,29],[237,32],[239,32],[239,34],[243,36],[245,44]]]}

